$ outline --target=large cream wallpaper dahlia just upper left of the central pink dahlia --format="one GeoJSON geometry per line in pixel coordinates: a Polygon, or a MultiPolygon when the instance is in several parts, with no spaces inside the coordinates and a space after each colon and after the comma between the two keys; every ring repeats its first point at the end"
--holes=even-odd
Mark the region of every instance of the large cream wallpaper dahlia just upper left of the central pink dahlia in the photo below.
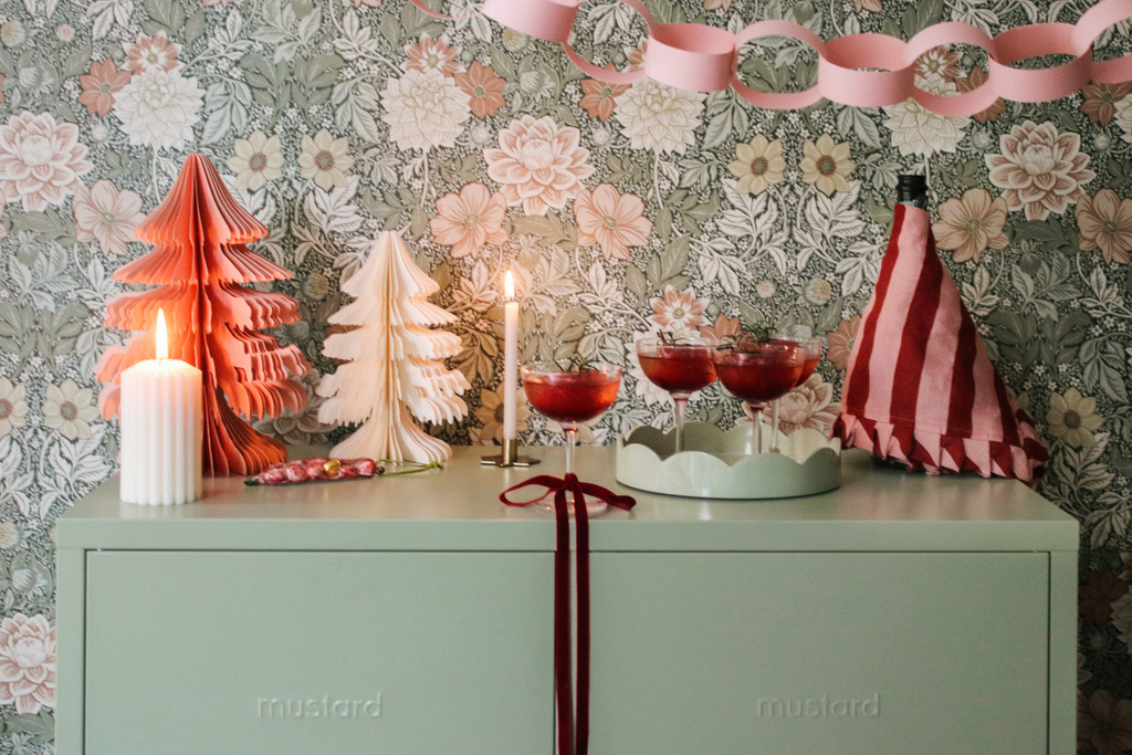
{"type": "Polygon", "coordinates": [[[410,69],[401,78],[391,78],[381,92],[381,106],[389,137],[402,149],[455,146],[472,114],[468,95],[455,79],[435,68],[410,69]]]}

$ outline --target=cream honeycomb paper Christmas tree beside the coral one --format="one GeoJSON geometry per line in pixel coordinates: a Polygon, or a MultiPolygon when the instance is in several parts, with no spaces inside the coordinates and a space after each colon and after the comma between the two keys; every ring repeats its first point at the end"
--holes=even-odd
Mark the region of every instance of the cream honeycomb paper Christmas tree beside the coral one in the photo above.
{"type": "Polygon", "coordinates": [[[411,462],[441,462],[448,444],[418,428],[424,422],[454,422],[468,413],[458,397],[470,388],[464,376],[440,363],[460,353],[460,337],[429,327],[455,316],[426,298],[439,290],[413,261],[404,239],[384,232],[369,259],[342,284],[357,298],[329,321],[358,326],[326,338],[323,353],[344,363],[323,378],[318,410],[323,422],[362,423],[331,452],[343,458],[366,456],[411,462]]]}

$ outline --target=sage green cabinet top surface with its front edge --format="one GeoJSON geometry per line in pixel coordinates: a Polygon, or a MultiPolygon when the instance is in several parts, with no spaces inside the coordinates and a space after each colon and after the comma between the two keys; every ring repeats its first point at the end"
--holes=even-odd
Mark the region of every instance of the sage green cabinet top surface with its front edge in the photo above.
{"type": "MultiPolygon", "coordinates": [[[[298,447],[292,458],[325,455],[298,447]]],[[[563,472],[561,447],[524,449],[531,469],[480,465],[483,446],[453,448],[443,471],[348,482],[247,487],[205,480],[205,498],[180,506],[119,499],[111,477],[58,522],[60,548],[154,550],[554,549],[554,515],[505,506],[498,495],[563,472]]],[[[678,498],[615,480],[614,448],[582,447],[578,475],[637,500],[592,522],[595,551],[1077,551],[1078,523],[1014,480],[928,477],[842,455],[842,486],[818,496],[736,501],[678,498]]],[[[526,492],[526,491],[522,491],[526,492]]]]}

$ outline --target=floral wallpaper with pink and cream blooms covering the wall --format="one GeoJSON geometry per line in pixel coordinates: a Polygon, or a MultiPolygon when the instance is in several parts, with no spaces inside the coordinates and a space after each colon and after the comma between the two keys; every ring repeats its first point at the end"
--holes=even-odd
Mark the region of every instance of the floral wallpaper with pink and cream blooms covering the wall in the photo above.
{"type": "MultiPolygon", "coordinates": [[[[662,23],[736,31],[788,18],[831,37],[909,37],[938,20],[989,32],[1075,20],[1082,0],[651,0],[662,23]]],[[[448,12],[468,16],[470,0],[448,12]]],[[[576,46],[638,66],[644,26],[586,3],[576,46]]],[[[1129,50],[1109,29],[1098,58],[1129,50]]],[[[1031,61],[1032,62],[1032,61],[1031,61]]],[[[1038,61],[1040,62],[1040,61],[1038,61]]],[[[966,92],[984,53],[936,49],[921,87],[966,92]]],[[[789,91],[816,60],[747,45],[751,86],[789,91]]],[[[0,6],[0,753],[46,753],[53,730],[52,525],[115,469],[92,366],[110,274],[189,152],[211,156],[269,229],[256,249],[303,319],[275,333],[319,371],[340,283],[378,231],[401,230],[458,317],[453,367],[472,384],[461,444],[501,435],[503,272],[522,297],[521,359],[627,368],[608,443],[663,424],[666,394],[634,340],[719,338],[767,325],[816,334],[818,372],[783,400],[787,427],[827,427],[877,275],[895,177],[926,172],[941,254],[993,360],[1053,454],[1041,492],[1082,523],[1079,747],[1132,750],[1132,84],[1063,101],[998,101],[971,118],[914,102],[797,112],[642,80],[586,78],[561,51],[481,18],[441,23],[403,0],[8,0],[0,6]]],[[[258,420],[289,441],[318,422],[258,420]]],[[[701,419],[741,419],[712,387],[701,419]]],[[[557,443],[525,406],[523,439],[557,443]]]]}

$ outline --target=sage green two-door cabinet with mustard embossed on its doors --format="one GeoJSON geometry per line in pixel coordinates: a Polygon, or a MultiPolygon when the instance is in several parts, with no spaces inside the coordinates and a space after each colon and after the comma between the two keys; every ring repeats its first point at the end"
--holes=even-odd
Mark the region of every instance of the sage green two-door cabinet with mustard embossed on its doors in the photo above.
{"type": "MultiPolygon", "coordinates": [[[[302,448],[294,457],[312,455],[302,448]]],[[[58,525],[59,755],[554,755],[554,516],[528,470],[112,478],[58,525]]],[[[561,448],[532,448],[539,473],[561,448]]],[[[592,523],[593,755],[1072,755],[1078,523],[1023,484],[842,458],[592,523]]]]}

